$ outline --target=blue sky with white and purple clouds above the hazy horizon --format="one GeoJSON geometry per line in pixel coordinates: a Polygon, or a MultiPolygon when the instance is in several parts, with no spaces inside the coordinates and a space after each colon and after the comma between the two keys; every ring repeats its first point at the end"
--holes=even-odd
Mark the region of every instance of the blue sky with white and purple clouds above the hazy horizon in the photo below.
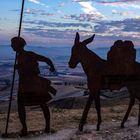
{"type": "MultiPolygon", "coordinates": [[[[18,34],[22,0],[0,2],[0,44],[18,34]]],[[[140,0],[25,0],[21,36],[32,46],[71,46],[95,34],[95,47],[132,40],[140,47],[140,0]]]]}

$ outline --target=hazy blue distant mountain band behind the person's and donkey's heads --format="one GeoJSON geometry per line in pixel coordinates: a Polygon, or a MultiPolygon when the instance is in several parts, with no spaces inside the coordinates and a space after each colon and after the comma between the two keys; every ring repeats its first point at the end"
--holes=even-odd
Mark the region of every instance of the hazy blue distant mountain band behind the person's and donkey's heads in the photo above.
{"type": "MultiPolygon", "coordinates": [[[[54,61],[67,61],[71,54],[71,47],[43,47],[43,46],[27,46],[26,50],[36,52],[38,54],[48,56],[52,58],[54,61]]],[[[93,48],[91,49],[97,53],[101,58],[106,59],[107,52],[110,49],[102,47],[102,48],[93,48]]],[[[137,50],[137,61],[140,62],[140,48],[136,48],[137,50]]],[[[15,53],[11,49],[10,45],[0,45],[0,60],[8,60],[14,59],[15,53]]]]}

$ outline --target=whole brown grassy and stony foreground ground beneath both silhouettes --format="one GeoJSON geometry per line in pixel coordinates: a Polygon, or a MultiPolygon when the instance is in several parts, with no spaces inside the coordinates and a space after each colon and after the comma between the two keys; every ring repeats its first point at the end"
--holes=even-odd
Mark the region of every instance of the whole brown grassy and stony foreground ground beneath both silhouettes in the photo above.
{"type": "MultiPolygon", "coordinates": [[[[81,104],[81,101],[79,101],[81,104]]],[[[85,104],[85,101],[83,102],[85,104]]],[[[140,128],[137,126],[138,105],[133,107],[126,128],[120,129],[121,120],[127,109],[128,99],[102,102],[102,125],[101,130],[96,131],[96,110],[91,108],[87,124],[82,133],[77,131],[82,114],[82,107],[62,109],[51,107],[52,134],[44,134],[44,118],[39,108],[27,107],[27,124],[29,135],[25,138],[19,137],[21,125],[17,111],[12,110],[9,122],[8,137],[10,139],[35,139],[35,140],[139,140],[140,128]]],[[[15,108],[15,106],[14,106],[15,108]]],[[[1,108],[2,109],[2,108],[1,108]]],[[[0,112],[0,133],[4,133],[6,122],[6,111],[0,112]]],[[[1,139],[3,139],[1,137],[1,139]]]]}

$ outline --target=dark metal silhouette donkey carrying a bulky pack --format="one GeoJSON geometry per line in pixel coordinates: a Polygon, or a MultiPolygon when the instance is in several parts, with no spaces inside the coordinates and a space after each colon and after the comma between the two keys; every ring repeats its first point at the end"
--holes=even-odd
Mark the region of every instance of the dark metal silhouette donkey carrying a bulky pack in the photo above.
{"type": "Polygon", "coordinates": [[[110,86],[114,84],[119,85],[120,88],[124,85],[128,87],[130,92],[130,105],[122,121],[121,127],[124,127],[124,122],[127,120],[128,114],[134,103],[134,98],[136,97],[134,93],[134,89],[136,89],[136,87],[134,84],[132,84],[132,82],[134,82],[133,80],[138,81],[138,79],[137,77],[135,77],[136,79],[133,79],[132,76],[134,76],[135,73],[138,73],[139,64],[135,62],[136,51],[133,48],[133,43],[131,41],[116,41],[111,47],[111,50],[108,52],[108,61],[106,61],[101,59],[97,54],[86,47],[88,43],[93,41],[94,36],[95,34],[92,37],[80,42],[80,35],[79,33],[76,33],[74,46],[72,47],[71,57],[69,60],[70,68],[75,68],[78,63],[81,63],[83,70],[87,75],[88,88],[90,90],[89,98],[79,124],[80,131],[83,130],[83,126],[86,123],[86,118],[93,100],[95,101],[95,108],[98,116],[97,130],[100,129],[100,124],[102,121],[100,110],[100,89],[110,88],[110,86]],[[125,45],[130,46],[131,53],[129,53],[129,57],[131,60],[128,59],[129,57],[124,55],[126,51],[128,51],[125,45]],[[116,49],[116,46],[119,47],[116,49]],[[117,50],[118,52],[114,53],[114,50],[117,50]],[[123,54],[119,54],[119,51],[122,51],[123,54]],[[120,69],[120,66],[122,69],[120,69]]]}

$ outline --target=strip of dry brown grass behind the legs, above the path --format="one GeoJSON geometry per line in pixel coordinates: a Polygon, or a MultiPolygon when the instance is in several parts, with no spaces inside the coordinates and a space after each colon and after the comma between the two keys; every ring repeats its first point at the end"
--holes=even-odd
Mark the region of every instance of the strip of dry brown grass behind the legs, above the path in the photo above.
{"type": "MultiPolygon", "coordinates": [[[[111,104],[110,106],[102,107],[102,120],[108,121],[121,121],[127,109],[127,105],[111,104]]],[[[64,128],[77,128],[79,120],[81,118],[83,109],[57,109],[51,108],[51,124],[55,130],[61,130],[64,128]]],[[[137,117],[138,105],[135,105],[132,109],[130,116],[137,117]]],[[[96,110],[91,108],[88,114],[88,124],[96,124],[96,110]]],[[[6,114],[0,114],[0,131],[4,132],[6,123],[6,114]]],[[[27,111],[27,125],[29,130],[42,130],[45,127],[45,121],[41,110],[29,110],[27,111]]],[[[17,112],[11,113],[9,132],[18,132],[21,129],[17,112]]]]}

